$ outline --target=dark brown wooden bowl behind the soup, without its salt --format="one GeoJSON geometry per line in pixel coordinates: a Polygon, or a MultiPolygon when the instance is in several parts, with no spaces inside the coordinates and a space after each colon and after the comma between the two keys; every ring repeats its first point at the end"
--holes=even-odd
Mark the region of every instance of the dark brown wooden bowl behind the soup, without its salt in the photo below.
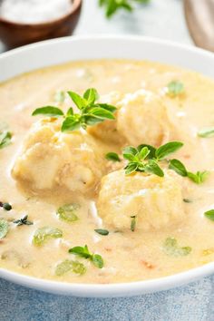
{"type": "Polygon", "coordinates": [[[24,44],[72,34],[78,23],[83,1],[71,1],[73,6],[66,15],[47,23],[22,24],[0,18],[0,38],[2,42],[10,49],[24,44]]]}

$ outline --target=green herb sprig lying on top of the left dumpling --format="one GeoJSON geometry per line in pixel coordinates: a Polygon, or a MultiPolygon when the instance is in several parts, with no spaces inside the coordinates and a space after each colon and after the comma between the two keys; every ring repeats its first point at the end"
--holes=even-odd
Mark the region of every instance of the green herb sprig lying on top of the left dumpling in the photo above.
{"type": "Polygon", "coordinates": [[[36,109],[32,115],[43,114],[50,117],[63,116],[61,131],[77,131],[80,128],[85,130],[87,126],[92,126],[105,120],[115,119],[113,112],[116,111],[116,107],[107,103],[97,102],[99,95],[94,88],[87,89],[87,91],[83,93],[83,97],[76,92],[70,91],[68,94],[79,109],[78,113],[74,113],[72,107],[64,114],[63,111],[57,107],[45,106],[36,109]]]}

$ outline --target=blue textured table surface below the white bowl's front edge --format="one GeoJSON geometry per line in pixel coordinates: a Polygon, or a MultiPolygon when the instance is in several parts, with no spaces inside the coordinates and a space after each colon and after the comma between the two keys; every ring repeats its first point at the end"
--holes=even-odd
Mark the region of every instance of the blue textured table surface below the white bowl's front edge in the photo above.
{"type": "Polygon", "coordinates": [[[63,297],[0,279],[1,321],[213,321],[214,277],[130,298],[63,297]]]}

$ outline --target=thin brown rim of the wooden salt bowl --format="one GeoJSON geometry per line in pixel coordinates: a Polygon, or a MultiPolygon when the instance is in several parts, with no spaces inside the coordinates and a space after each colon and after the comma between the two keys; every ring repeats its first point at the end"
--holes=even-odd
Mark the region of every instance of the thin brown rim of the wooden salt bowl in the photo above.
{"type": "Polygon", "coordinates": [[[0,24],[7,24],[8,26],[12,26],[14,28],[45,28],[45,27],[51,27],[53,24],[63,24],[63,21],[68,19],[70,16],[74,15],[77,10],[82,6],[83,0],[71,0],[73,2],[71,9],[64,15],[61,15],[59,18],[55,18],[53,20],[48,20],[47,22],[42,23],[18,23],[13,20],[2,18],[0,15],[0,24]]]}

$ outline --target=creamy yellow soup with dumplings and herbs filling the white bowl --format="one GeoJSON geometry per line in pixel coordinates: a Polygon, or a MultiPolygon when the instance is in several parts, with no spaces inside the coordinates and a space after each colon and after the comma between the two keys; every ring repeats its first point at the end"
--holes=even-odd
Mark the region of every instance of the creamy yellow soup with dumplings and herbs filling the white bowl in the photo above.
{"type": "Polygon", "coordinates": [[[108,284],[212,261],[213,92],[197,73],[118,60],[2,83],[0,267],[108,284]]]}

